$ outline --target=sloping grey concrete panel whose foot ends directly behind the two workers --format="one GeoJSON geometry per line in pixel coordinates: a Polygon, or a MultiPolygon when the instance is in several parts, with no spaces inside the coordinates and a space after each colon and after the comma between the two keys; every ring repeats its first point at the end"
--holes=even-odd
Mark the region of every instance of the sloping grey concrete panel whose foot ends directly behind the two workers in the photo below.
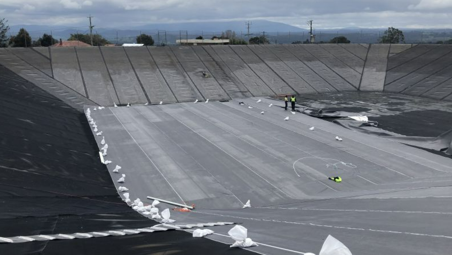
{"type": "Polygon", "coordinates": [[[245,61],[253,72],[264,81],[272,91],[278,95],[293,94],[295,91],[284,82],[278,74],[273,72],[253,51],[246,45],[233,45],[231,49],[237,56],[245,61]]]}

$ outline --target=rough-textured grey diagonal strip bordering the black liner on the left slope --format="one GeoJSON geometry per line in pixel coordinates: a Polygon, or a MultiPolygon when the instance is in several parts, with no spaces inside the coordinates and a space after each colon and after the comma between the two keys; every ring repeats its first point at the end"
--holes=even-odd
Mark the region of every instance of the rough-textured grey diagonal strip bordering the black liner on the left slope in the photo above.
{"type": "Polygon", "coordinates": [[[0,48],[0,64],[79,111],[83,111],[83,105],[85,104],[95,104],[95,102],[77,93],[65,84],[50,78],[40,70],[28,65],[24,60],[21,60],[6,48],[0,48]]]}

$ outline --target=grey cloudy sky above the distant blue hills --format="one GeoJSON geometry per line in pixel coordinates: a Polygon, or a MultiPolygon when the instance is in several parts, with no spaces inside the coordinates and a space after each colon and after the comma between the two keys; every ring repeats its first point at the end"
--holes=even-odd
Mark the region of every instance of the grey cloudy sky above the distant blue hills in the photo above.
{"type": "Polygon", "coordinates": [[[266,19],[306,28],[452,28],[452,0],[0,0],[14,24],[97,27],[266,19]]]}

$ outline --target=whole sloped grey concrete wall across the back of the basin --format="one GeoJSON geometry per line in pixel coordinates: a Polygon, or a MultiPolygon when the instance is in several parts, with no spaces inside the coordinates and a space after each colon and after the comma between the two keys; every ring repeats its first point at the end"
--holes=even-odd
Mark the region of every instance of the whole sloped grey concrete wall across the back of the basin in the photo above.
{"type": "Polygon", "coordinates": [[[10,48],[6,67],[99,105],[341,91],[450,100],[452,46],[314,44],[10,48]],[[19,66],[14,63],[21,63],[19,66]],[[36,72],[35,71],[35,72],[36,72]],[[205,71],[208,77],[202,76],[205,71]]]}

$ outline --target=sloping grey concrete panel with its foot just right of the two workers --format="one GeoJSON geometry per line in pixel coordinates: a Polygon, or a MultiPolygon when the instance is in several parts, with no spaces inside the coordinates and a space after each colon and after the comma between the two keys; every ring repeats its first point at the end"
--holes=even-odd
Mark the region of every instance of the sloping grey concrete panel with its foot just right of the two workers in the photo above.
{"type": "MultiPolygon", "coordinates": [[[[259,56],[276,74],[279,75],[298,94],[316,93],[305,80],[301,79],[289,66],[270,50],[273,45],[250,45],[250,49],[259,56]]],[[[278,47],[278,46],[274,46],[278,47]]]]}

